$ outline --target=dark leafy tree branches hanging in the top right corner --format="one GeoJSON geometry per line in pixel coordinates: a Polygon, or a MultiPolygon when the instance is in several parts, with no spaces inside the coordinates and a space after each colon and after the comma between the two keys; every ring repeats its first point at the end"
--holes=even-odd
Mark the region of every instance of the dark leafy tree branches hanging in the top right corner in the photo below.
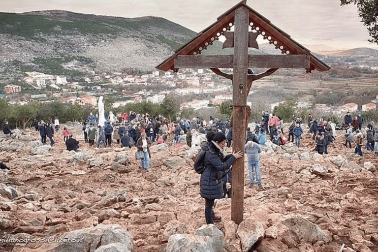
{"type": "Polygon", "coordinates": [[[378,0],[340,0],[341,6],[347,4],[355,4],[358,8],[358,16],[367,27],[369,35],[368,39],[371,43],[378,44],[378,0]]]}

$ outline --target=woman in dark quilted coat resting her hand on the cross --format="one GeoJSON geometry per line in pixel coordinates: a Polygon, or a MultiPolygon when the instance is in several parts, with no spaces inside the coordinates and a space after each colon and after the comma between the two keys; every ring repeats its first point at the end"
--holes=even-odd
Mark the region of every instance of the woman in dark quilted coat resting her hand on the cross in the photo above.
{"type": "MultiPolygon", "coordinates": [[[[201,174],[200,194],[205,198],[205,219],[206,224],[212,224],[214,200],[223,196],[222,177],[227,169],[236,161],[237,158],[243,157],[241,151],[233,152],[227,161],[223,162],[223,147],[226,143],[226,136],[222,132],[209,132],[208,141],[201,145],[206,151],[204,157],[205,170],[201,174]]],[[[219,218],[218,221],[220,221],[219,218]]]]}

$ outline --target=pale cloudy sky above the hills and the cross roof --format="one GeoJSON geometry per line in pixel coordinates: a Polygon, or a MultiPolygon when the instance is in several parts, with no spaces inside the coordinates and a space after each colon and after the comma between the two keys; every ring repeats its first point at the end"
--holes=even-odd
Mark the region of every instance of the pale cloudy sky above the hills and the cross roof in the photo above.
{"type": "MultiPolygon", "coordinates": [[[[1,12],[62,9],[106,16],[158,16],[200,32],[240,0],[1,0],[1,12]]],[[[371,47],[354,5],[340,0],[247,0],[247,5],[306,45],[371,47]]],[[[0,18],[1,22],[1,18],[0,18]]]]}

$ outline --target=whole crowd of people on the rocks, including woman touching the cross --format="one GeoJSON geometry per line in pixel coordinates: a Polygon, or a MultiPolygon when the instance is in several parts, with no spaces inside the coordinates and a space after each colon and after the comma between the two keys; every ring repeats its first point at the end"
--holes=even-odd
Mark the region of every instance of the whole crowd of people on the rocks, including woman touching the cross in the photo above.
{"type": "MultiPolygon", "coordinates": [[[[225,147],[232,147],[233,130],[229,119],[223,122],[221,119],[210,117],[208,121],[205,121],[194,117],[191,120],[177,118],[175,122],[170,122],[161,115],[150,116],[133,111],[128,114],[123,113],[120,118],[110,111],[109,114],[105,113],[104,117],[106,119],[104,125],[99,126],[98,115],[90,113],[87,121],[82,125],[85,143],[93,147],[96,144],[96,149],[100,148],[101,144],[103,148],[113,145],[124,148],[135,146],[136,154],[140,159],[140,168],[146,172],[149,170],[150,147],[153,144],[166,143],[174,148],[186,145],[196,152],[205,151],[203,160],[205,169],[200,179],[200,194],[205,198],[205,219],[208,224],[221,220],[221,217],[214,215],[214,201],[217,198],[231,197],[232,163],[243,156],[241,152],[227,154],[224,151],[225,147]]],[[[374,154],[378,155],[378,133],[376,133],[378,130],[374,128],[374,122],[369,122],[366,128],[362,129],[363,122],[361,114],[352,117],[349,112],[345,115],[341,126],[330,119],[325,120],[322,117],[315,119],[309,114],[307,133],[312,134],[314,150],[321,155],[328,154],[328,146],[335,144],[337,130],[345,131],[345,147],[352,148],[353,143],[356,155],[363,156],[364,144],[366,151],[374,151],[374,154]]],[[[285,145],[292,142],[297,148],[301,148],[304,133],[302,125],[302,118],[293,116],[290,126],[284,128],[282,118],[267,111],[262,112],[260,122],[250,124],[246,131],[244,152],[248,159],[251,188],[256,181],[257,189],[264,189],[259,161],[260,146],[270,139],[273,144],[285,145]]],[[[47,122],[36,120],[33,126],[39,131],[43,144],[46,144],[47,138],[50,139],[50,145],[55,143],[54,132],[57,134],[60,130],[57,117],[54,118],[55,127],[47,122]]],[[[3,125],[2,131],[6,136],[11,134],[7,123],[3,125]]],[[[66,149],[77,151],[79,141],[73,138],[72,133],[64,127],[62,134],[66,149]]]]}

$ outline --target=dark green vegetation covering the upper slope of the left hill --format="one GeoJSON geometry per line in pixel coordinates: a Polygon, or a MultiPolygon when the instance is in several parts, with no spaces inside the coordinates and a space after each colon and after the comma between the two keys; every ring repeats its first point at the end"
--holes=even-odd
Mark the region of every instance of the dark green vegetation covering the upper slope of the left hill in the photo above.
{"type": "MultiPolygon", "coordinates": [[[[64,12],[64,15],[57,12],[51,13],[49,16],[42,16],[36,13],[17,14],[0,12],[0,18],[0,33],[16,35],[36,41],[43,41],[43,35],[64,35],[72,33],[72,31],[83,35],[107,34],[117,36],[125,31],[143,32],[147,29],[168,29],[173,34],[178,32],[188,37],[193,37],[196,34],[187,28],[158,17],[127,19],[73,12],[64,12]]],[[[178,38],[175,43],[186,43],[187,41],[183,39],[178,38]]],[[[174,44],[174,41],[166,42],[168,45],[174,44]]]]}

